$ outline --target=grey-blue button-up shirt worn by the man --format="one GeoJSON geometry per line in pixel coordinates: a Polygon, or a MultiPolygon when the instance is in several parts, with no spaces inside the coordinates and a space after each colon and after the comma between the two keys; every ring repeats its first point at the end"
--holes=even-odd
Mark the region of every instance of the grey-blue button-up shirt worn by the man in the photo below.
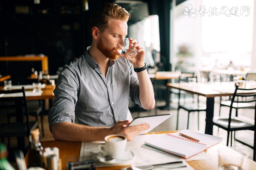
{"type": "Polygon", "coordinates": [[[119,57],[109,61],[106,77],[86,52],[65,65],[59,74],[53,107],[49,110],[49,128],[62,121],[90,126],[112,126],[127,120],[129,97],[140,105],[139,81],[132,64],[119,57]]]}

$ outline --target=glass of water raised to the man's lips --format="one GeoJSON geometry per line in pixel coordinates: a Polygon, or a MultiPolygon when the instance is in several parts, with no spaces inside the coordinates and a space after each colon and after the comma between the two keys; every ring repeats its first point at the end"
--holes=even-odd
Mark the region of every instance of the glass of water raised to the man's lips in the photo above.
{"type": "Polygon", "coordinates": [[[117,51],[127,60],[133,59],[138,54],[138,51],[132,46],[128,38],[122,39],[117,45],[122,48],[117,51]]]}

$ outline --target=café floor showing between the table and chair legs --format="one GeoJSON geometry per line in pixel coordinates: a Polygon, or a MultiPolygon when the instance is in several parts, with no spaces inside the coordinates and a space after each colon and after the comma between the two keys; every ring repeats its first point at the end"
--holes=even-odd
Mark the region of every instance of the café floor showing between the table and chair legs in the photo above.
{"type": "MultiPolygon", "coordinates": [[[[177,99],[175,98],[175,96],[173,96],[173,98],[174,99],[173,99],[171,105],[173,107],[177,107],[177,99]]],[[[199,100],[200,100],[200,103],[202,103],[202,104],[206,102],[206,98],[204,98],[202,96],[200,96],[199,100]]],[[[186,98],[186,102],[188,102],[188,103],[192,102],[192,98],[186,98]]],[[[157,101],[157,106],[163,106],[163,105],[165,105],[164,101],[157,101]]],[[[227,108],[227,107],[222,107],[221,108],[221,114],[222,115],[226,114],[228,111],[229,111],[229,108],[227,108]]],[[[166,114],[166,113],[172,113],[172,117],[167,119],[165,122],[160,124],[158,127],[156,127],[151,132],[176,130],[177,109],[171,109],[171,110],[157,109],[157,114],[158,115],[166,114]]],[[[249,116],[250,113],[253,113],[252,109],[245,109],[244,111],[242,111],[242,110],[238,111],[238,114],[241,115],[241,116],[243,116],[243,115],[249,116]]],[[[197,129],[197,114],[198,114],[197,112],[190,114],[190,116],[189,116],[189,129],[197,129]]],[[[216,98],[215,99],[215,107],[214,107],[214,115],[217,116],[218,114],[219,114],[219,98],[216,98]]],[[[155,115],[155,109],[148,110],[148,111],[140,111],[139,113],[138,112],[132,112],[132,117],[133,118],[138,117],[138,116],[146,116],[146,115],[155,115]]],[[[178,130],[187,129],[187,112],[185,112],[181,109],[179,117],[180,117],[180,120],[179,120],[178,130]]],[[[206,113],[205,112],[200,112],[199,131],[201,131],[201,132],[204,132],[205,117],[206,117],[206,113]]],[[[34,119],[34,118],[31,117],[31,119],[34,119]]],[[[254,119],[254,117],[250,118],[251,121],[253,119],[254,119]]],[[[0,117],[0,120],[3,120],[3,117],[0,117]]],[[[39,128],[41,128],[41,124],[39,124],[39,128]]],[[[41,141],[54,140],[52,134],[49,131],[48,116],[47,115],[44,116],[44,132],[45,132],[45,136],[43,137],[42,134],[41,134],[41,139],[40,139],[41,141]]],[[[224,131],[222,129],[218,129],[217,127],[214,127],[213,135],[223,137],[224,140],[222,141],[222,143],[226,144],[226,135],[227,135],[226,131],[224,131]]],[[[253,143],[253,132],[250,132],[250,131],[237,132],[236,137],[237,138],[242,138],[243,140],[246,140],[248,143],[251,143],[251,144],[253,143]]],[[[12,147],[16,146],[16,139],[15,138],[11,139],[11,146],[12,147]]],[[[235,150],[243,153],[243,154],[248,154],[249,158],[253,159],[253,150],[252,150],[252,148],[244,146],[241,143],[238,143],[236,141],[233,141],[233,148],[235,150]]],[[[12,164],[14,166],[16,166],[15,162],[12,162],[12,164]]]]}

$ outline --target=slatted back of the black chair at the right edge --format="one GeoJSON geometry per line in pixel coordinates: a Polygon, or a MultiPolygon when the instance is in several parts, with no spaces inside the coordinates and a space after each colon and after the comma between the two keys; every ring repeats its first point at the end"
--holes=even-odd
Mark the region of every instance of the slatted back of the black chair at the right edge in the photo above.
{"type": "Polygon", "coordinates": [[[230,104],[228,128],[230,128],[233,104],[237,103],[237,105],[238,105],[238,103],[252,103],[252,102],[255,102],[254,116],[256,117],[256,88],[244,89],[244,88],[239,88],[239,86],[236,85],[236,89],[235,89],[235,92],[233,94],[233,97],[231,99],[231,104],[230,104]]]}

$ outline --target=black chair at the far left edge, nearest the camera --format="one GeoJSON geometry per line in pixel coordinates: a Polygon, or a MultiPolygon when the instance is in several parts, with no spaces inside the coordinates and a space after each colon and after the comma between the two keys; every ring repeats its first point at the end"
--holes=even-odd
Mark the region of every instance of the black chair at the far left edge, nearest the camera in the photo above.
{"type": "Polygon", "coordinates": [[[25,137],[29,137],[30,130],[38,127],[38,121],[29,121],[25,89],[22,87],[18,90],[0,90],[0,94],[3,95],[0,97],[1,113],[7,112],[9,109],[15,109],[16,114],[15,122],[0,123],[1,140],[4,142],[4,138],[17,137],[18,147],[25,150],[25,137]]]}

